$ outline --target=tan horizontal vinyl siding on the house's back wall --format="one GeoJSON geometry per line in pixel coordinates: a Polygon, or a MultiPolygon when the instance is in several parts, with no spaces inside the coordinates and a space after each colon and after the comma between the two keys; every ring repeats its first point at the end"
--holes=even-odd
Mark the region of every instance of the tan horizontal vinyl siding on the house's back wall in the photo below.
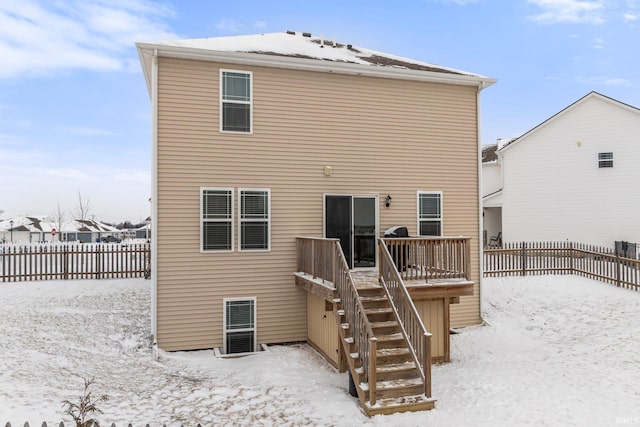
{"type": "MultiPolygon", "coordinates": [[[[158,74],[161,348],[221,346],[222,299],[243,296],[259,344],[305,340],[295,236],[322,236],[325,193],[379,195],[379,231],[416,235],[416,192],[442,191],[444,234],[473,238],[478,282],[477,88],[169,58],[158,74]],[[251,135],[219,132],[220,68],[253,72],[251,135]],[[200,253],[200,187],[234,188],[233,253],[200,253]],[[242,187],[271,190],[270,252],[237,251],[242,187]]],[[[476,288],[452,326],[479,316],[476,288]]]]}

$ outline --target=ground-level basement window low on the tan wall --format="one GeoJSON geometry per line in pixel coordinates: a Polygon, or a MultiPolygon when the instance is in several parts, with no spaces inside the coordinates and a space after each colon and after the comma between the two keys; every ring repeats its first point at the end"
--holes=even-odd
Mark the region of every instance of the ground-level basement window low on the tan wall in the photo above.
{"type": "Polygon", "coordinates": [[[256,299],[224,299],[224,353],[256,349],[256,299]]]}

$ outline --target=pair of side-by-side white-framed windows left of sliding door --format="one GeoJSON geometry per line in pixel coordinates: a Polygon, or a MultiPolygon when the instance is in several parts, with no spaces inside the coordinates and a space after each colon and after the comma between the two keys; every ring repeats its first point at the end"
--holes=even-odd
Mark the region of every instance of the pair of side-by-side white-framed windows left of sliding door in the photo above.
{"type": "MultiPolygon", "coordinates": [[[[233,188],[200,189],[202,251],[233,251],[233,194],[233,188]]],[[[241,188],[238,200],[240,251],[271,249],[271,191],[241,188]]]]}

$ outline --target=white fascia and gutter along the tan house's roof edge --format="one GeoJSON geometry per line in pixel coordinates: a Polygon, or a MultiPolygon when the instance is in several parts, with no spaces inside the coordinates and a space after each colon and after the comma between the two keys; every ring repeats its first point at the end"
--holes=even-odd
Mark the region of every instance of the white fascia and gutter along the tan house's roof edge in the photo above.
{"type": "MultiPolygon", "coordinates": [[[[393,68],[375,65],[353,64],[346,62],[297,58],[293,56],[267,55],[262,53],[225,52],[196,49],[189,47],[166,46],[161,44],[137,43],[138,50],[158,50],[158,56],[192,59],[197,61],[223,62],[228,64],[253,65],[292,70],[316,71],[335,74],[349,74],[368,77],[381,77],[400,80],[415,80],[433,83],[448,83],[476,86],[484,89],[496,82],[489,77],[393,68]]],[[[145,65],[143,64],[143,67],[145,65]]]]}

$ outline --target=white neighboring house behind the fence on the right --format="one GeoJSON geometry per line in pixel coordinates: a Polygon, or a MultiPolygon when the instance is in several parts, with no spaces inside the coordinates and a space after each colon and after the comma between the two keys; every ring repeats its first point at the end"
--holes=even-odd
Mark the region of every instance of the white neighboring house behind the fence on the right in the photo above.
{"type": "Polygon", "coordinates": [[[591,92],[483,163],[484,230],[504,242],[640,243],[640,109],[591,92]]]}

